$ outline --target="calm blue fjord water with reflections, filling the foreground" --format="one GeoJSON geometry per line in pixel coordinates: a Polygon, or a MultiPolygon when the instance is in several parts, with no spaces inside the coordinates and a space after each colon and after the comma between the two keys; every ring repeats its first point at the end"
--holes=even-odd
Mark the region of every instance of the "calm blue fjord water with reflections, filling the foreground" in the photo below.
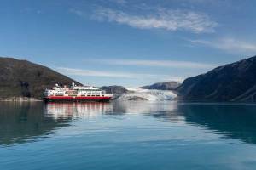
{"type": "Polygon", "coordinates": [[[0,103],[0,169],[256,169],[256,105],[0,103]]]}

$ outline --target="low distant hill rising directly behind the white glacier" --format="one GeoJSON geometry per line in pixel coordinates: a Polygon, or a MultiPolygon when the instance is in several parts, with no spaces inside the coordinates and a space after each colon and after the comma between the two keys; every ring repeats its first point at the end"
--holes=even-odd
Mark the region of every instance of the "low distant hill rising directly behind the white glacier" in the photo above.
{"type": "Polygon", "coordinates": [[[157,89],[157,90],[174,90],[176,89],[180,83],[178,82],[157,82],[152,85],[143,86],[143,89],[157,89]]]}

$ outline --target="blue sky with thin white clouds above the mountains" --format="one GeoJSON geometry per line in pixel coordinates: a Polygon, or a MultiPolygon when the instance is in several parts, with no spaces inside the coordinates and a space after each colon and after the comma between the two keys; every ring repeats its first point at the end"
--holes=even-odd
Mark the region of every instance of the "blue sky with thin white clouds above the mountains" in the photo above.
{"type": "Polygon", "coordinates": [[[2,0],[0,55],[84,84],[183,81],[256,54],[256,1],[2,0]]]}

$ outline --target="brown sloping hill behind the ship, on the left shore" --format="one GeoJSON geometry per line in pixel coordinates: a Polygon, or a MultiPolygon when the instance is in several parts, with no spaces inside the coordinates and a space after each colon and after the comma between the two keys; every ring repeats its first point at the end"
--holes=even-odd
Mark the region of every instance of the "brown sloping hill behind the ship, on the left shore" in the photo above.
{"type": "Polygon", "coordinates": [[[43,65],[0,57],[0,99],[42,99],[45,88],[52,88],[55,83],[69,85],[72,82],[80,84],[43,65]]]}

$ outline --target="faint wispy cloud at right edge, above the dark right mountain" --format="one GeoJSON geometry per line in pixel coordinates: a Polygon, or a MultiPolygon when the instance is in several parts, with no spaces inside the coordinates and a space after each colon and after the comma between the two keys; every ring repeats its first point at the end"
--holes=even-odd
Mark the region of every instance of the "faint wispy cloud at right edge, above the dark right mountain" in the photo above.
{"type": "Polygon", "coordinates": [[[235,38],[221,38],[218,40],[189,40],[212,48],[219,48],[231,53],[255,54],[256,43],[245,42],[235,38]]]}

